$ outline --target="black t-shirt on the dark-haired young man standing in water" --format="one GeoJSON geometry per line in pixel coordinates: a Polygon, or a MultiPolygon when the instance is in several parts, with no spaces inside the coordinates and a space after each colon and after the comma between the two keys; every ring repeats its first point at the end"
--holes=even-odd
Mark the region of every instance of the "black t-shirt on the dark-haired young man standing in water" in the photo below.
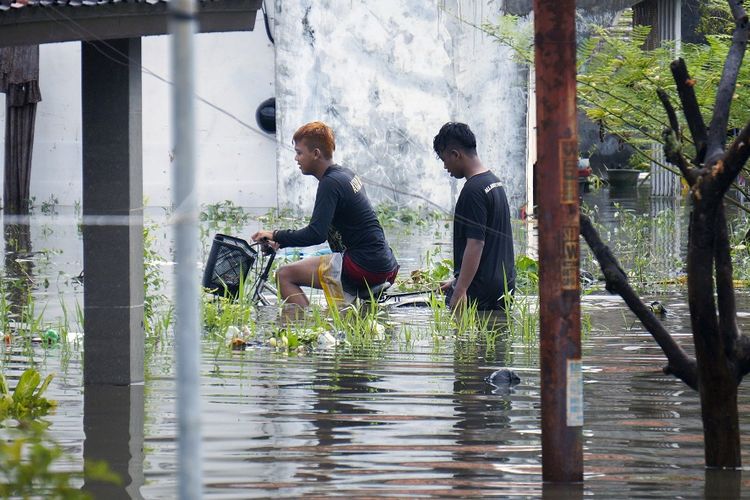
{"type": "Polygon", "coordinates": [[[491,308],[516,279],[510,209],[500,179],[490,171],[469,178],[453,215],[455,276],[461,269],[467,238],[484,241],[479,269],[467,295],[480,309],[491,308]]]}

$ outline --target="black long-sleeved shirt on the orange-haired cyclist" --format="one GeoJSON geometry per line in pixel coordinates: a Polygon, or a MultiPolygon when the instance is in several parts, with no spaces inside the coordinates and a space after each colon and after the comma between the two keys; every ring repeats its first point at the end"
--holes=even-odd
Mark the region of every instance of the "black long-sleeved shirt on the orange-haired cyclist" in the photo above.
{"type": "Polygon", "coordinates": [[[341,235],[347,255],[363,269],[386,273],[396,267],[362,181],[338,165],[328,167],[318,182],[310,224],[296,231],[279,230],[276,241],[282,248],[318,245],[326,241],[331,229],[341,235]]]}

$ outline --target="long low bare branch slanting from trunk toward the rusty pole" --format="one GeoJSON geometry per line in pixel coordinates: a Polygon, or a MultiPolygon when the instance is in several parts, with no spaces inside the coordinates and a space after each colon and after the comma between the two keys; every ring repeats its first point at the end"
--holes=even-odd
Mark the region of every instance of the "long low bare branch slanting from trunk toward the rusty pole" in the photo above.
{"type": "Polygon", "coordinates": [[[698,371],[696,362],[688,356],[672,336],[664,329],[664,325],[654,316],[651,309],[643,303],[638,295],[633,291],[628,283],[625,272],[620,267],[617,259],[599,237],[599,233],[594,228],[585,215],[580,216],[581,235],[588,243],[591,251],[594,252],[596,260],[604,273],[606,288],[611,293],[616,293],[625,300],[631,311],[635,313],[643,326],[654,337],[659,344],[665,356],[667,357],[668,366],[664,369],[669,373],[685,382],[693,389],[698,388],[698,371]]]}

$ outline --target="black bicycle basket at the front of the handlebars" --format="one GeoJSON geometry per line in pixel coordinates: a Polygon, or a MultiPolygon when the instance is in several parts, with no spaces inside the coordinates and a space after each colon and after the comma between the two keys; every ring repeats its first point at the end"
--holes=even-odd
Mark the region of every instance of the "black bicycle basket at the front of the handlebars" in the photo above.
{"type": "Polygon", "coordinates": [[[203,271],[203,286],[214,295],[236,297],[257,256],[247,241],[217,234],[203,271]]]}

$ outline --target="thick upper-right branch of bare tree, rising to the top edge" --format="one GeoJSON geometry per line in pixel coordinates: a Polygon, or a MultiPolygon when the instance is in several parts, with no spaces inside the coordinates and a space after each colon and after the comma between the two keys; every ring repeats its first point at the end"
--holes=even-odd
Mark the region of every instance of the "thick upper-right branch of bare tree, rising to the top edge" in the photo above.
{"type": "Polygon", "coordinates": [[[748,32],[750,32],[750,23],[748,23],[747,14],[742,8],[742,2],[730,0],[729,6],[734,15],[735,28],[732,34],[732,45],[729,47],[729,53],[724,61],[724,70],[721,72],[719,88],[716,91],[713,117],[708,127],[705,158],[705,163],[708,166],[724,155],[729,108],[732,105],[732,97],[737,86],[737,76],[740,72],[742,59],[745,56],[748,32]]]}

